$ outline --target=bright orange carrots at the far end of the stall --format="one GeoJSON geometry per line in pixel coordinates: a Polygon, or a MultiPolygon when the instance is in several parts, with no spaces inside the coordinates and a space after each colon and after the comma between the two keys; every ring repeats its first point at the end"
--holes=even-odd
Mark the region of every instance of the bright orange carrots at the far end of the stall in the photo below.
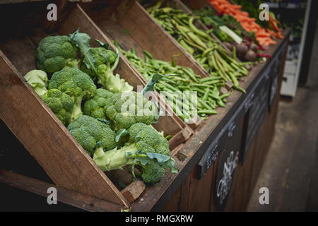
{"type": "MultiPolygon", "coordinates": [[[[236,4],[230,4],[227,0],[209,0],[214,8],[218,10],[219,13],[230,14],[242,25],[242,28],[248,32],[253,31],[257,36],[257,41],[262,46],[268,46],[269,44],[276,44],[274,40],[271,39],[271,35],[275,37],[282,37],[281,31],[273,32],[269,29],[261,28],[256,22],[255,18],[249,18],[249,13],[241,11],[242,6],[236,4]]],[[[279,30],[279,29],[278,29],[279,30]]]]}

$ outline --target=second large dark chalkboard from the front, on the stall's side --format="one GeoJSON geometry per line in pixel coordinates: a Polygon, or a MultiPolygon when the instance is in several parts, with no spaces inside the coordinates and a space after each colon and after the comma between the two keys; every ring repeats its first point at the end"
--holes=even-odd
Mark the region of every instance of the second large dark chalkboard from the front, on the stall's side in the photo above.
{"type": "Polygon", "coordinates": [[[259,83],[255,85],[252,93],[247,97],[247,101],[245,102],[245,112],[247,112],[247,114],[245,115],[245,136],[242,139],[241,161],[245,160],[254,137],[259,130],[259,126],[261,126],[266,116],[270,85],[269,72],[270,67],[267,67],[259,83]]]}

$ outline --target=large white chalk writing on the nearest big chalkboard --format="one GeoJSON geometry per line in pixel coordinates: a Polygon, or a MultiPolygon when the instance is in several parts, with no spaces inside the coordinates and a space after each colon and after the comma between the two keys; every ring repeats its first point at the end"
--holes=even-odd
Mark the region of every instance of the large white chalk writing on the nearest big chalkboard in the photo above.
{"type": "Polygon", "coordinates": [[[216,191],[216,196],[219,197],[221,205],[230,192],[230,188],[232,185],[232,174],[237,167],[238,158],[239,153],[236,152],[234,156],[234,151],[232,150],[230,152],[230,156],[228,157],[226,162],[224,162],[223,177],[220,179],[220,182],[218,182],[218,189],[216,191]]]}

